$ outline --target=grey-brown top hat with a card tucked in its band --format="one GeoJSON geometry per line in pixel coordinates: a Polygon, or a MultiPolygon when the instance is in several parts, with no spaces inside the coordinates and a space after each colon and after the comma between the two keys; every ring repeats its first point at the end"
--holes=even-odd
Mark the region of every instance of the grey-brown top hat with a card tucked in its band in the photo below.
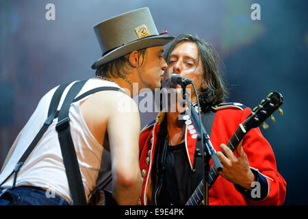
{"type": "Polygon", "coordinates": [[[149,8],[139,8],[107,19],[93,27],[103,56],[93,69],[147,47],[163,46],[175,37],[158,34],[149,8]]]}

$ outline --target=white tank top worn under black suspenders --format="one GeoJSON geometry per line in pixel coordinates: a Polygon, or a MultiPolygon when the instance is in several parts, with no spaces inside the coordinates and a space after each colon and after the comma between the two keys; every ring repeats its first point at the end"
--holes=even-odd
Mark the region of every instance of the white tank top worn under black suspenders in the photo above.
{"type": "MultiPolygon", "coordinates": [[[[64,90],[64,94],[62,95],[57,110],[60,110],[64,98],[72,85],[73,83],[70,83],[70,85],[64,90]]],[[[120,88],[116,83],[110,81],[89,79],[77,96],[88,90],[92,90],[93,88],[103,86],[120,88]]],[[[53,88],[42,97],[34,114],[29,118],[20,139],[16,142],[16,149],[12,153],[12,157],[10,157],[8,163],[1,172],[0,183],[10,175],[14,166],[18,162],[18,159],[21,158],[44,124],[44,121],[47,118],[49,103],[51,102],[51,97],[55,90],[56,88],[53,88]]],[[[107,177],[111,171],[110,153],[107,150],[103,150],[103,146],[97,142],[94,136],[92,136],[92,133],[88,129],[81,114],[79,103],[88,99],[89,96],[90,95],[72,103],[69,110],[70,133],[73,138],[86,197],[88,197],[90,192],[92,192],[92,190],[97,186],[98,175],[100,175],[100,180],[102,181],[103,177],[107,177]],[[103,160],[101,157],[103,157],[103,160]],[[99,173],[99,170],[103,172],[99,173]]],[[[52,192],[55,192],[55,194],[62,196],[68,203],[70,203],[70,190],[68,188],[68,181],[57,132],[55,131],[56,124],[57,118],[53,120],[53,123],[51,123],[47,131],[44,133],[44,136],[42,136],[41,140],[36,145],[34,151],[32,151],[25,164],[23,164],[23,167],[18,172],[16,186],[31,185],[40,187],[47,190],[49,196],[52,196],[52,192]]],[[[12,183],[13,176],[10,177],[1,188],[3,190],[10,188],[12,183]]]]}

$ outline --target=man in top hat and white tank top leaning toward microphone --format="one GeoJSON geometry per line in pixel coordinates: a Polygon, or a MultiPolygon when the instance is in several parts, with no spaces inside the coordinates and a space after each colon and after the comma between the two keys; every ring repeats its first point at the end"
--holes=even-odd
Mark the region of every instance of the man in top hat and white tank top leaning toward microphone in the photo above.
{"type": "MultiPolygon", "coordinates": [[[[149,8],[114,16],[95,25],[94,31],[103,55],[92,65],[96,77],[88,79],[77,96],[106,86],[118,91],[95,92],[69,106],[70,133],[84,193],[88,201],[99,175],[107,178],[112,174],[112,195],[116,202],[135,205],[140,198],[142,179],[138,164],[140,117],[132,99],[133,83],[138,83],[138,91],[160,88],[167,67],[162,57],[163,45],[174,37],[158,34],[149,8]]],[[[74,83],[65,88],[57,109],[74,83]]],[[[18,176],[10,177],[18,159],[44,124],[55,90],[42,97],[5,159],[0,174],[0,205],[72,204],[66,177],[70,170],[64,166],[56,117],[19,169],[18,176]]]]}

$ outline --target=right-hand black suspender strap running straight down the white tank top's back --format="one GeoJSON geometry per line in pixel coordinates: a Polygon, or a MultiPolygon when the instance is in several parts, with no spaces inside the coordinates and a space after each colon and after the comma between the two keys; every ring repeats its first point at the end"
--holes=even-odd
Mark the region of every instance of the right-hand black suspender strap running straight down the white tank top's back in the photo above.
{"type": "Polygon", "coordinates": [[[70,119],[68,117],[70,104],[84,86],[84,83],[86,83],[86,81],[77,81],[68,91],[59,112],[59,117],[57,119],[58,122],[55,127],[61,146],[63,162],[66,170],[66,176],[68,178],[68,185],[70,188],[73,205],[86,205],[87,203],[77,155],[72,136],[70,135],[70,119]]]}

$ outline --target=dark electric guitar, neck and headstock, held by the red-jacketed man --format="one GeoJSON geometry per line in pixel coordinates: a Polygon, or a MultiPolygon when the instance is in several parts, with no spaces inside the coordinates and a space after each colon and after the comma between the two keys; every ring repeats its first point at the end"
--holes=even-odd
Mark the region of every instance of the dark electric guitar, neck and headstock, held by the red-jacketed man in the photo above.
{"type": "MultiPolygon", "coordinates": [[[[243,123],[241,123],[236,129],[233,136],[231,136],[229,142],[227,143],[227,146],[231,151],[235,151],[237,146],[240,144],[246,133],[261,125],[263,123],[263,128],[267,129],[268,125],[264,123],[264,120],[266,118],[270,117],[272,122],[275,122],[274,116],[272,116],[272,113],[279,109],[279,114],[283,115],[283,110],[279,108],[283,104],[283,96],[279,94],[278,92],[271,92],[268,94],[267,98],[265,100],[262,100],[259,105],[257,105],[255,108],[253,108],[253,111],[251,114],[244,120],[243,123]]],[[[216,181],[218,177],[218,173],[214,169],[214,166],[211,166],[209,168],[209,181],[208,186],[211,188],[211,185],[216,181]]],[[[192,196],[188,199],[187,203],[185,205],[199,205],[201,201],[203,200],[203,181],[198,184],[196,190],[192,193],[192,196]]]]}

